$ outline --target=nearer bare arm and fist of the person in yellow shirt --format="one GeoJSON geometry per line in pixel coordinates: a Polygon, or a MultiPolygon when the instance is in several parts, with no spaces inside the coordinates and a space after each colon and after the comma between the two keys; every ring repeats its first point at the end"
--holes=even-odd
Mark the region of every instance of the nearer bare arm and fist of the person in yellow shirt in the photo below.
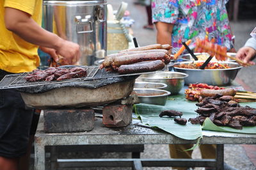
{"type": "Polygon", "coordinates": [[[46,31],[26,12],[6,7],[4,22],[9,31],[19,35],[29,43],[55,49],[57,54],[65,57],[70,64],[74,63],[74,60],[80,56],[79,45],[46,31]]]}

